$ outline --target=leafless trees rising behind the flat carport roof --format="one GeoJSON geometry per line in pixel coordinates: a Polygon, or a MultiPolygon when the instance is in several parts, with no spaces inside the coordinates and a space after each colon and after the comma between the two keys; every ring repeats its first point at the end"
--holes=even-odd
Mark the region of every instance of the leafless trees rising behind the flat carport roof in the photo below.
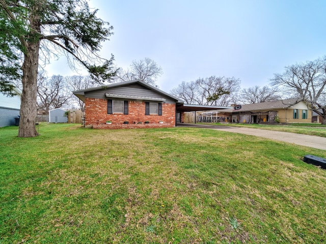
{"type": "Polygon", "coordinates": [[[239,87],[240,81],[234,77],[210,76],[195,81],[183,81],[171,90],[171,94],[186,104],[229,106],[239,87]]]}

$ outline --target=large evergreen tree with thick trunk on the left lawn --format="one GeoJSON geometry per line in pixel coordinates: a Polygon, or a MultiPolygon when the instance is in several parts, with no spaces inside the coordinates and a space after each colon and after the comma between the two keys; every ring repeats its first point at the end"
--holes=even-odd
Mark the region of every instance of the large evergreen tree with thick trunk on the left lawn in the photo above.
{"type": "Polygon", "coordinates": [[[11,81],[21,79],[18,136],[37,135],[39,65],[66,55],[71,68],[79,63],[98,81],[115,75],[113,56],[102,59],[98,55],[113,27],[96,13],[86,0],[0,0],[0,89],[10,93],[11,81]]]}

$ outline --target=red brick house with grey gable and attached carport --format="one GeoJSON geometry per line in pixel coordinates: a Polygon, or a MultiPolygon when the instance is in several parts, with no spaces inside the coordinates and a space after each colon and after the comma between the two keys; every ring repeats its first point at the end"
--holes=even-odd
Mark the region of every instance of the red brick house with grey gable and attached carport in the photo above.
{"type": "Polygon", "coordinates": [[[175,127],[185,111],[226,107],[186,105],[141,80],[120,82],[73,92],[85,102],[85,125],[95,129],[175,127]],[[112,125],[106,125],[106,121],[112,125]]]}

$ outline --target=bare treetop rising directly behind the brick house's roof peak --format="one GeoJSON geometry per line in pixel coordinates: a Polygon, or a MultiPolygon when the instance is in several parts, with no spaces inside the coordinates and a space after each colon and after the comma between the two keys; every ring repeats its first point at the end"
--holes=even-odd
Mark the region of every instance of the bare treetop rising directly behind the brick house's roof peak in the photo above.
{"type": "Polygon", "coordinates": [[[130,68],[127,70],[119,68],[115,80],[142,80],[155,86],[157,78],[162,74],[162,68],[153,59],[145,57],[139,61],[133,60],[130,68]]]}

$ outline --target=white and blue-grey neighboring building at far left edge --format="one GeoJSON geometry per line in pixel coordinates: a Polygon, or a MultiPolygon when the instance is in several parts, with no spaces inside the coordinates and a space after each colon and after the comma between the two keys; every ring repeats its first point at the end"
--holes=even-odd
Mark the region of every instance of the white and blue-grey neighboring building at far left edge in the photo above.
{"type": "Polygon", "coordinates": [[[16,93],[13,97],[8,97],[0,93],[0,127],[16,125],[19,117],[21,90],[14,88],[16,93]]]}

